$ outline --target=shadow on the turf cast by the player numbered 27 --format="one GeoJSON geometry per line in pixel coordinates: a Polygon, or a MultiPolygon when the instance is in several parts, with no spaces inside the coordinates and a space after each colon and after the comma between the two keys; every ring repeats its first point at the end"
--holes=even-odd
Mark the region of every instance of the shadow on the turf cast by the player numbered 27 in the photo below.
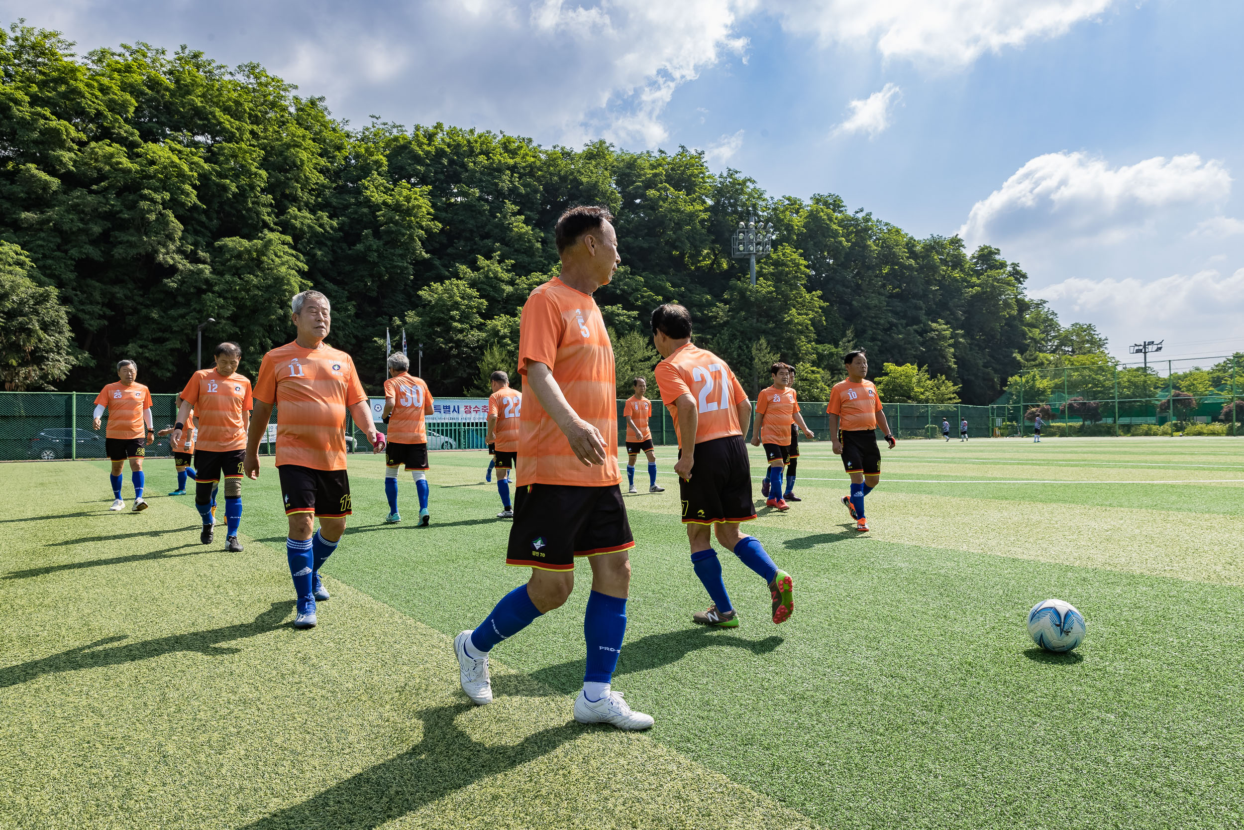
{"type": "MultiPolygon", "coordinates": [[[[714,631],[705,626],[669,631],[659,635],[639,637],[634,642],[623,643],[613,677],[646,672],[649,668],[662,668],[677,663],[687,655],[700,648],[741,648],[753,655],[768,655],[785,642],[782,637],[771,635],[764,640],[746,640],[735,635],[714,631]]],[[[503,694],[532,693],[531,681],[560,694],[570,694],[583,686],[583,661],[571,660],[527,674],[501,674],[493,679],[493,687],[503,694]],[[529,679],[530,678],[530,679],[529,679]]]]}

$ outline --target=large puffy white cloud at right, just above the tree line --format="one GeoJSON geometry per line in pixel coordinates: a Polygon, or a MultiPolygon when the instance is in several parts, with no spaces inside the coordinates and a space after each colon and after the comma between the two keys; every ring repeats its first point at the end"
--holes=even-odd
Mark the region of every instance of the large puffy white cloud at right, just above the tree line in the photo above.
{"type": "Polygon", "coordinates": [[[1117,168],[1086,153],[1047,153],[974,204],[959,235],[972,246],[1118,243],[1153,228],[1173,209],[1220,204],[1230,189],[1228,169],[1195,153],[1117,168]]]}

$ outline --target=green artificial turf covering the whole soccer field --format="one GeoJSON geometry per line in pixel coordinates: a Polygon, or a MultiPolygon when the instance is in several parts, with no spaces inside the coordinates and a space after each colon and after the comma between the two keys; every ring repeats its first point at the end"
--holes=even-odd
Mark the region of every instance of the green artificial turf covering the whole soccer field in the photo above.
{"type": "MultiPolygon", "coordinates": [[[[586,565],[564,609],[494,651],[494,706],[457,691],[449,638],[526,579],[503,565],[509,523],[493,519],[483,453],[433,455],[427,529],[408,477],[407,520],[383,525],[383,465],[351,458],[336,595],[304,633],[287,625],[270,467],[245,484],[243,555],[197,544],[188,497],[101,515],[102,464],[6,467],[0,788],[15,798],[0,824],[1244,823],[1244,445],[903,442],[883,454],[867,535],[837,501],[827,445],[802,449],[805,500],[748,525],[795,577],[782,626],[728,551],[744,625],[690,625],[708,597],[668,448],[669,492],[627,497],[637,548],[615,687],[657,718],[648,735],[570,722],[586,565]],[[1222,482],[1192,483],[1207,478],[1222,482]],[[957,483],[994,479],[1033,483],[957,483]],[[1172,483],[1127,483],[1154,480],[1172,483]],[[1088,620],[1074,655],[1028,638],[1028,610],[1050,596],[1088,620]]],[[[170,462],[148,470],[152,492],[169,489],[170,462]]]]}

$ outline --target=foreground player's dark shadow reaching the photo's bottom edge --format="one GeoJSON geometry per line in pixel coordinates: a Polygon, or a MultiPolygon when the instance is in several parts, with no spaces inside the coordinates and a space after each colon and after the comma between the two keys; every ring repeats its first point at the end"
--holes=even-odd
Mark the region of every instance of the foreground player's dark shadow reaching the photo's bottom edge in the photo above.
{"type": "Polygon", "coordinates": [[[378,828],[475,781],[546,755],[587,728],[570,722],[541,729],[515,744],[488,745],[458,727],[457,718],[473,708],[471,703],[458,703],[414,713],[423,722],[419,743],[243,830],[378,828]]]}

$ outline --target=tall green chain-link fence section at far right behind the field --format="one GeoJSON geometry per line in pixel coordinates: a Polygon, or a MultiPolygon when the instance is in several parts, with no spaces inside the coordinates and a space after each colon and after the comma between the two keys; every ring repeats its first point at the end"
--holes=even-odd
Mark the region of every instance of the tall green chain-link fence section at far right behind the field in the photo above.
{"type": "Polygon", "coordinates": [[[994,402],[1008,436],[1238,436],[1244,355],[1030,370],[994,402]]]}

